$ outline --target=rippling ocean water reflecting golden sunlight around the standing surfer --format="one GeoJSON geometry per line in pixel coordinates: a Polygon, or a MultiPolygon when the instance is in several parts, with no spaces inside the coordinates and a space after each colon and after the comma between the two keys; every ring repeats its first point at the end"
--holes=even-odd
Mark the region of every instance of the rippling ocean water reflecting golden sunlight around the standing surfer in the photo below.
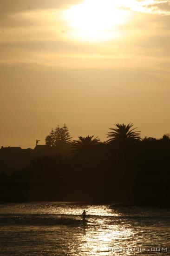
{"type": "Polygon", "coordinates": [[[170,209],[0,204],[0,255],[170,255],[170,209]],[[87,222],[81,221],[84,209],[89,210],[87,222]]]}

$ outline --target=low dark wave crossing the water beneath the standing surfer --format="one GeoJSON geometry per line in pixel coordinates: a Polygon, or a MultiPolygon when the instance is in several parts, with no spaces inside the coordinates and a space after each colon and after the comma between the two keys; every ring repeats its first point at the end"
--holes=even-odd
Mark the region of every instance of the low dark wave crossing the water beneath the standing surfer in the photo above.
{"type": "Polygon", "coordinates": [[[162,221],[170,222],[170,216],[100,216],[88,215],[87,221],[82,220],[80,215],[66,215],[66,214],[0,214],[0,225],[24,225],[24,226],[55,226],[55,225],[99,225],[100,220],[104,220],[107,224],[121,222],[154,222],[154,220],[161,219],[162,221]],[[99,221],[99,222],[98,222],[99,221]],[[109,221],[109,222],[108,222],[109,221]]]}

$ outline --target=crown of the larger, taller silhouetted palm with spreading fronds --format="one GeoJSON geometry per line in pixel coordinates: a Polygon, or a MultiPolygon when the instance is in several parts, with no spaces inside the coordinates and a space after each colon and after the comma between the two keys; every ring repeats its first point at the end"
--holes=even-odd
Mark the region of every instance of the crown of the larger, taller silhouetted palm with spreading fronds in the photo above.
{"type": "Polygon", "coordinates": [[[131,129],[133,123],[129,123],[128,125],[123,124],[115,124],[117,128],[110,128],[111,132],[107,133],[108,143],[112,141],[140,141],[140,132],[134,131],[136,128],[131,129]]]}

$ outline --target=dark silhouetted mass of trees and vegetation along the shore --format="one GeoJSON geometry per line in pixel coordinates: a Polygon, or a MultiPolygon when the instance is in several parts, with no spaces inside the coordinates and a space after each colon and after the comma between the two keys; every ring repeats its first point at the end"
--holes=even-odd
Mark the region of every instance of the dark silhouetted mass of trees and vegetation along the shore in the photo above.
{"type": "Polygon", "coordinates": [[[170,205],[170,138],[140,138],[132,124],[111,128],[108,141],[71,141],[68,129],[46,137],[65,153],[34,158],[11,175],[0,173],[0,202],[86,201],[170,205]]]}

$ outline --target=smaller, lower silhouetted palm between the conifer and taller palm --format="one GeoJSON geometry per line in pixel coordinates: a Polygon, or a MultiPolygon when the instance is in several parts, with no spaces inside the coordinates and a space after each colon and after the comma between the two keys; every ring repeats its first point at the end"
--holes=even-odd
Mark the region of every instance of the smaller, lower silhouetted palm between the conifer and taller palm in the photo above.
{"type": "Polygon", "coordinates": [[[92,150],[93,146],[98,144],[98,141],[100,141],[98,139],[98,137],[93,138],[94,135],[92,136],[86,136],[86,137],[82,137],[79,136],[78,139],[79,140],[74,140],[73,141],[73,145],[72,145],[72,155],[76,155],[76,154],[81,154],[81,153],[90,153],[90,151],[92,150]]]}

